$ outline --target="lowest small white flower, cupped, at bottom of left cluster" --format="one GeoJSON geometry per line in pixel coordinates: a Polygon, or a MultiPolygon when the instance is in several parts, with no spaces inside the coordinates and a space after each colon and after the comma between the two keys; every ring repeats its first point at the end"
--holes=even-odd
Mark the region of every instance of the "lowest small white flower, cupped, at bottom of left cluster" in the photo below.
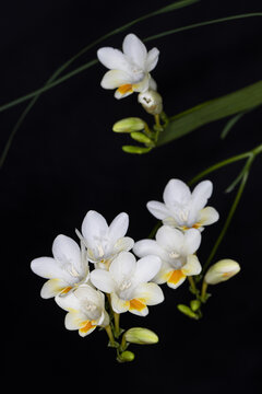
{"type": "Polygon", "coordinates": [[[68,329],[79,329],[84,337],[96,326],[107,326],[109,316],[105,310],[105,296],[88,285],[81,285],[66,297],[57,296],[56,302],[69,313],[64,325],[68,329]]]}

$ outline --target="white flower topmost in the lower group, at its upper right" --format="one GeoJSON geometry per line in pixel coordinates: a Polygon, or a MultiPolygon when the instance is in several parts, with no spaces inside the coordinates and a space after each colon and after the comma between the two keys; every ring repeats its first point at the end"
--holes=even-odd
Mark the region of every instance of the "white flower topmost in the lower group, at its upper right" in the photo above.
{"type": "Polygon", "coordinates": [[[219,218],[214,208],[205,207],[212,192],[211,181],[200,182],[191,193],[182,181],[170,179],[163,194],[164,204],[148,201],[146,207],[164,224],[181,230],[194,228],[201,231],[204,225],[212,224],[219,218]]]}

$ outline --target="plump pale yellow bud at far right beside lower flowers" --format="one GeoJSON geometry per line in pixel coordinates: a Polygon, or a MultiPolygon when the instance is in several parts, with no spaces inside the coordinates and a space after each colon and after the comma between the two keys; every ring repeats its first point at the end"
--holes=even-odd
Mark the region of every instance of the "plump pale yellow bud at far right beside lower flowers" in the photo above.
{"type": "Polygon", "coordinates": [[[230,279],[239,271],[240,266],[237,262],[229,258],[222,259],[210,267],[205,274],[204,281],[209,285],[216,285],[230,279]]]}

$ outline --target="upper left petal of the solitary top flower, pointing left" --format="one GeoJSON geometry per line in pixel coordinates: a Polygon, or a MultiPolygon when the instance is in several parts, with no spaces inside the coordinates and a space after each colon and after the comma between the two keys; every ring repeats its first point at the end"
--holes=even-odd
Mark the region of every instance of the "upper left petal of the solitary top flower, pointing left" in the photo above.
{"type": "Polygon", "coordinates": [[[99,61],[109,70],[121,70],[129,72],[130,66],[127,57],[119,49],[104,47],[97,50],[99,61]]]}

